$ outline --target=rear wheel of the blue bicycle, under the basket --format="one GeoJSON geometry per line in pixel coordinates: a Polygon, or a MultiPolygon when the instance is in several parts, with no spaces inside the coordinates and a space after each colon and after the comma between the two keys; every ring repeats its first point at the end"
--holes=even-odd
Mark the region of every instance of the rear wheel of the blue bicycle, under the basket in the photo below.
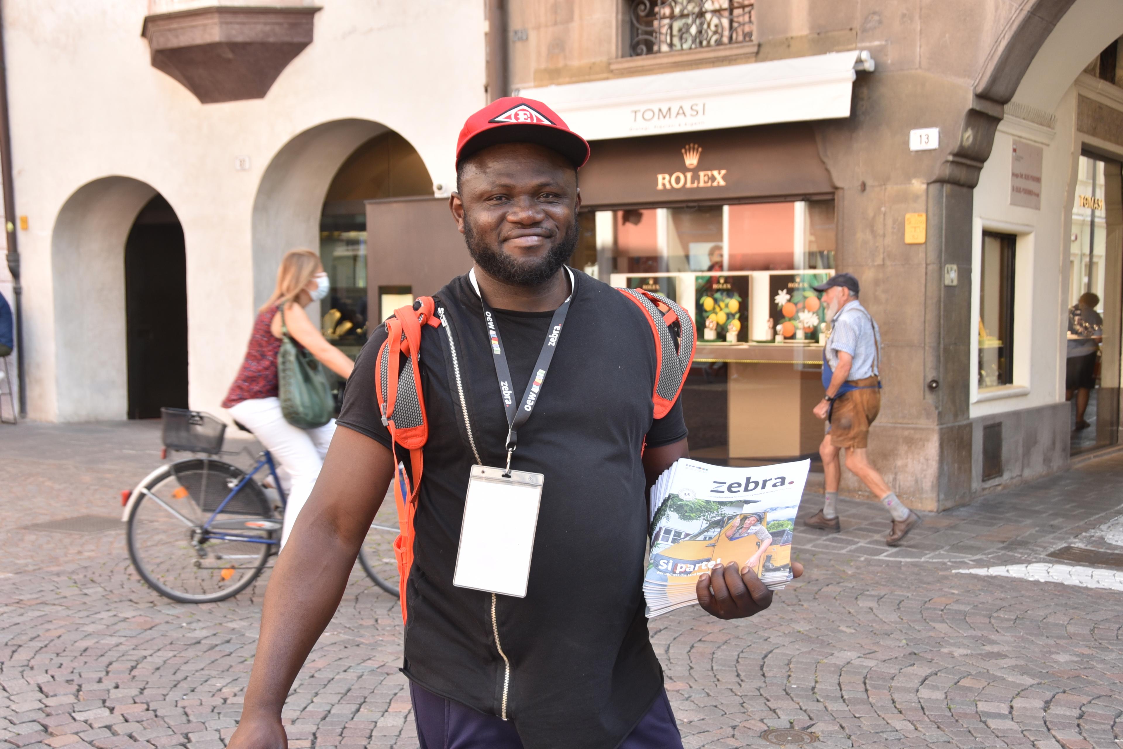
{"type": "Polygon", "coordinates": [[[249,481],[210,520],[245,475],[229,463],[192,458],[168,465],[144,484],[129,511],[126,538],[145,583],[180,603],[208,603],[237,595],[254,582],[275,546],[213,535],[266,540],[280,533],[281,520],[273,517],[261,485],[249,481]]]}

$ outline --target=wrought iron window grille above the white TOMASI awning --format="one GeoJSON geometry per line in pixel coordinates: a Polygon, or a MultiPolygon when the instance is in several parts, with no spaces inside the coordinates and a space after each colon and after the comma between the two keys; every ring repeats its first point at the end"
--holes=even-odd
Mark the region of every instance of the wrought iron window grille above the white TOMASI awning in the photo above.
{"type": "Polygon", "coordinates": [[[752,42],[754,0],[631,0],[629,54],[752,42]]]}

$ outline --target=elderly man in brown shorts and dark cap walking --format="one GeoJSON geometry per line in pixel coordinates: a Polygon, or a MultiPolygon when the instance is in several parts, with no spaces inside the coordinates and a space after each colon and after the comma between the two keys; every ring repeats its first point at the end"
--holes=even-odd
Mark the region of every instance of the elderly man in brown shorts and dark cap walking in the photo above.
{"type": "Polygon", "coordinates": [[[804,520],[811,528],[838,531],[841,527],[834,503],[838,500],[842,465],[839,451],[846,450],[846,467],[869,487],[893,518],[887,546],[900,546],[920,524],[920,515],[901,503],[882,474],[869,464],[866,442],[869,424],[882,408],[882,334],[866,308],[858,301],[858,280],[839,273],[814,287],[822,292],[831,335],[823,348],[823,387],[827,394],[815,407],[815,415],[827,420],[827,435],[819,446],[823,458],[827,493],[823,509],[804,520]]]}

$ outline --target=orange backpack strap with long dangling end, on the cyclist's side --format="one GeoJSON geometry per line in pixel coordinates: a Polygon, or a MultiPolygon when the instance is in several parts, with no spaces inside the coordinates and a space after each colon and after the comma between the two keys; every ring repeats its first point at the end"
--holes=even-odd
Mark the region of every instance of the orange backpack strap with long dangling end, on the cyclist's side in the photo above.
{"type": "Polygon", "coordinates": [[[413,565],[413,514],[423,471],[422,450],[429,439],[424,399],[421,396],[421,332],[426,326],[440,325],[433,316],[431,296],[419,298],[386,320],[386,340],[378,349],[374,368],[374,392],[382,423],[390,430],[391,451],[396,466],[394,502],[398,505],[398,538],[394,557],[398,560],[399,595],[402,622],[405,622],[405,583],[413,565]],[[404,467],[398,459],[398,447],[409,450],[412,487],[404,467]]]}

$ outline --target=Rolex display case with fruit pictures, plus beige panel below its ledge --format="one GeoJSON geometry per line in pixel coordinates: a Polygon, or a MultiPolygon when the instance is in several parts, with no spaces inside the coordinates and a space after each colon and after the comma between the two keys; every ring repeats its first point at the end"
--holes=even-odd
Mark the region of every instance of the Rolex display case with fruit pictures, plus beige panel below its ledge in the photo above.
{"type": "Polygon", "coordinates": [[[691,456],[731,465],[815,455],[823,424],[829,332],[815,271],[613,273],[614,286],[646,289],[691,312],[697,334],[683,389],[691,456]]]}

